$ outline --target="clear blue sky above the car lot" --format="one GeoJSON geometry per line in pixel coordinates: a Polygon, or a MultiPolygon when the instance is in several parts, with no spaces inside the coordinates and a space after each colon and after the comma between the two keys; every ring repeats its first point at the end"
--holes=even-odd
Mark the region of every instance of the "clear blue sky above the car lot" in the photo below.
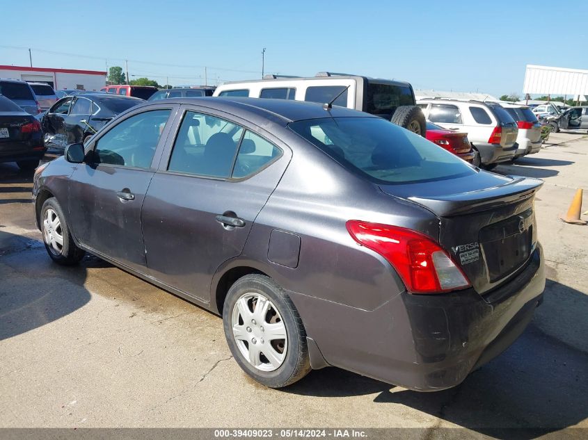
{"type": "Polygon", "coordinates": [[[131,78],[179,85],[204,83],[208,66],[214,84],[259,78],[265,47],[266,73],[522,95],[527,64],[588,68],[587,17],[588,1],[8,0],[0,64],[29,65],[31,47],[36,67],[105,70],[128,59],[131,78]]]}

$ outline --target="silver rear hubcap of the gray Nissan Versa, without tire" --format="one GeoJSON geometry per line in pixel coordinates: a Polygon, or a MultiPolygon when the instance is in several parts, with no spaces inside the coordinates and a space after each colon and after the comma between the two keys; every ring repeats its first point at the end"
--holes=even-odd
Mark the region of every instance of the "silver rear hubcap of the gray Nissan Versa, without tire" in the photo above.
{"type": "Polygon", "coordinates": [[[257,370],[274,371],[286,357],[286,326],[276,306],[260,293],[241,295],[232,310],[232,334],[241,355],[257,370]]]}

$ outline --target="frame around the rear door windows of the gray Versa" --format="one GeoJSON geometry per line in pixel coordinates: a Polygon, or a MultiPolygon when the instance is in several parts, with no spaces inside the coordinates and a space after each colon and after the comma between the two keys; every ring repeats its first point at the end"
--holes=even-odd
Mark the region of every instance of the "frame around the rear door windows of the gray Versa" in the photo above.
{"type": "Polygon", "coordinates": [[[191,177],[193,179],[207,179],[209,181],[226,181],[237,183],[252,179],[253,177],[257,176],[257,174],[260,174],[262,171],[266,170],[271,165],[277,163],[278,161],[280,161],[280,159],[284,157],[287,157],[287,161],[289,161],[290,158],[292,158],[292,149],[290,149],[285,144],[285,142],[283,142],[283,140],[280,140],[272,133],[269,133],[269,131],[262,129],[262,127],[259,127],[256,124],[253,124],[252,122],[244,120],[241,117],[238,117],[237,115],[233,115],[232,113],[225,113],[214,108],[202,107],[196,104],[180,104],[180,108],[178,109],[175,115],[173,123],[168,124],[166,126],[166,129],[168,129],[168,127],[170,128],[170,132],[168,133],[166,145],[164,147],[163,153],[161,154],[161,158],[159,159],[159,165],[157,166],[156,170],[156,172],[160,174],[173,174],[177,176],[191,177]],[[168,165],[171,160],[171,154],[173,152],[175,139],[177,137],[177,134],[180,132],[180,126],[182,125],[182,121],[184,120],[184,114],[189,111],[202,115],[218,117],[219,119],[225,120],[226,122],[237,125],[238,127],[241,127],[241,129],[243,129],[243,132],[239,137],[237,149],[235,150],[235,156],[233,157],[230,177],[214,177],[203,174],[193,174],[188,172],[168,170],[168,165]],[[232,177],[232,172],[235,168],[235,162],[237,161],[237,156],[239,156],[239,149],[241,149],[241,142],[243,140],[243,137],[245,136],[246,131],[251,131],[251,133],[255,133],[257,136],[260,136],[260,138],[267,140],[267,142],[271,143],[272,145],[280,149],[280,154],[273,158],[272,161],[269,161],[268,163],[264,164],[264,166],[262,166],[261,168],[255,170],[255,172],[248,174],[245,177],[234,178],[232,177]]]}

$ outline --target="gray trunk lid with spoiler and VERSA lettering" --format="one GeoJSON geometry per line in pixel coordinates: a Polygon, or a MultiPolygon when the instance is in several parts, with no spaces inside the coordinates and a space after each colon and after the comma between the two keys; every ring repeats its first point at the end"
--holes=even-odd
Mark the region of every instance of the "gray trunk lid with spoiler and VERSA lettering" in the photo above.
{"type": "Polygon", "coordinates": [[[438,241],[484,294],[530,260],[537,246],[534,195],[543,181],[479,172],[447,181],[383,185],[434,213],[438,241]]]}

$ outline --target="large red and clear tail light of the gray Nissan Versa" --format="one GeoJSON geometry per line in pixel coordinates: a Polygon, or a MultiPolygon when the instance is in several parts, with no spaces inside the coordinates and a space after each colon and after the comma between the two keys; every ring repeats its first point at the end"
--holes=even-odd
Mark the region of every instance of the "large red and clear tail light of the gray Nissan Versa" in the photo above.
{"type": "Polygon", "coordinates": [[[411,293],[441,293],[471,284],[438,243],[417,231],[349,220],[347,231],[360,245],[383,256],[411,293]]]}

